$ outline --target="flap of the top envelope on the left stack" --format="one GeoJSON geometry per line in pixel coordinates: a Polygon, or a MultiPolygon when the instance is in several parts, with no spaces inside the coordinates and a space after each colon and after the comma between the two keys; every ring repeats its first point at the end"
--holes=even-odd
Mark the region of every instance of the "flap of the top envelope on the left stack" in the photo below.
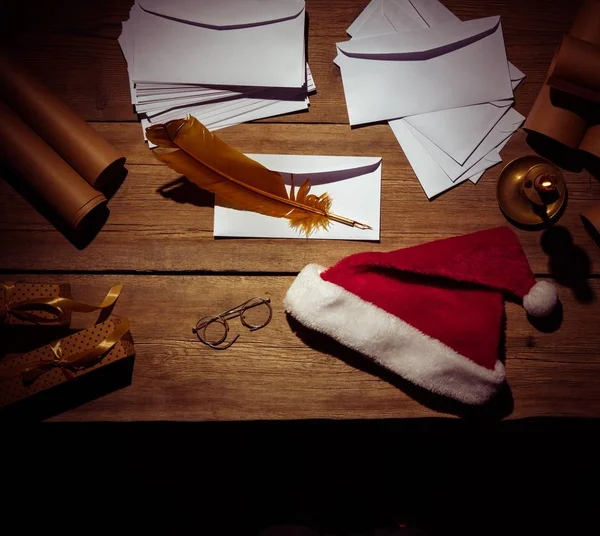
{"type": "Polygon", "coordinates": [[[292,19],[304,9],[304,0],[138,0],[138,4],[154,15],[218,30],[292,19]]]}

